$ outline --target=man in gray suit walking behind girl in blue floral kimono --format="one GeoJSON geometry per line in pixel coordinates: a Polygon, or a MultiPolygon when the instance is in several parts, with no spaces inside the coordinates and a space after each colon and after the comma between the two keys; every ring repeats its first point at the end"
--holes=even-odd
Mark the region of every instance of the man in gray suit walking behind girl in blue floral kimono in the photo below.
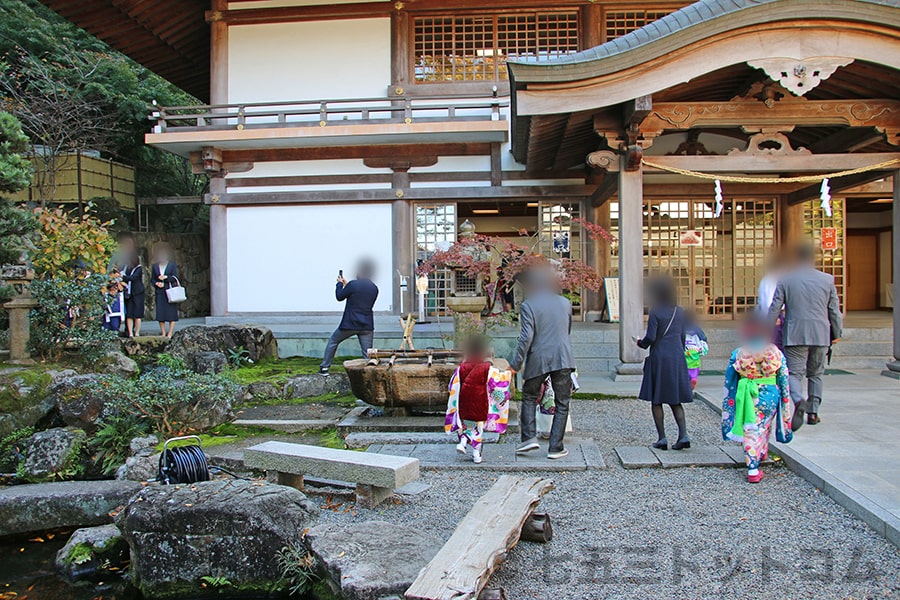
{"type": "Polygon", "coordinates": [[[769,320],[773,323],[784,306],[784,349],[790,371],[795,430],[803,424],[804,411],[808,425],[819,422],[825,356],[828,347],[840,339],[843,326],[834,277],[816,270],[815,257],[813,246],[797,247],[796,264],[778,282],[769,306],[769,320]],[[806,397],[804,378],[808,385],[806,397]]]}

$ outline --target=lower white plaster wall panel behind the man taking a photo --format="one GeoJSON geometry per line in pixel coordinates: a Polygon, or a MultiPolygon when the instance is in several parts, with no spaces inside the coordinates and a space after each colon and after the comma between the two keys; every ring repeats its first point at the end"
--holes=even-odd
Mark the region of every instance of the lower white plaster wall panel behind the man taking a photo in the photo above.
{"type": "Polygon", "coordinates": [[[377,311],[391,310],[391,205],[228,208],[230,312],[340,311],[338,270],[363,257],[378,266],[377,311]]]}

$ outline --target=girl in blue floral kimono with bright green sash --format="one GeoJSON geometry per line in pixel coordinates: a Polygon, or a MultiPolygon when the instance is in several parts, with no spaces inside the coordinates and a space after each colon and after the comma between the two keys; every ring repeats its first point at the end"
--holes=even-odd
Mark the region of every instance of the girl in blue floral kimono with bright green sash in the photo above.
{"type": "Polygon", "coordinates": [[[769,437],[791,441],[793,413],[787,361],[771,343],[764,317],[752,314],[741,328],[741,346],[728,361],[722,402],[722,438],[742,442],[747,481],[759,483],[759,465],[769,455],[769,437]]]}

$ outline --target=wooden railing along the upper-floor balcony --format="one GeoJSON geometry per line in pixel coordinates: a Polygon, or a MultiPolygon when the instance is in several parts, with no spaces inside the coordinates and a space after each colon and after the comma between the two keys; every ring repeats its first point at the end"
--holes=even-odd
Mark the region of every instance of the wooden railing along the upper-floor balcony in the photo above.
{"type": "Polygon", "coordinates": [[[456,96],[453,98],[361,98],[301,100],[199,106],[152,106],[154,133],[197,129],[267,127],[327,127],[356,123],[414,123],[436,121],[500,121],[509,98],[456,96]]]}

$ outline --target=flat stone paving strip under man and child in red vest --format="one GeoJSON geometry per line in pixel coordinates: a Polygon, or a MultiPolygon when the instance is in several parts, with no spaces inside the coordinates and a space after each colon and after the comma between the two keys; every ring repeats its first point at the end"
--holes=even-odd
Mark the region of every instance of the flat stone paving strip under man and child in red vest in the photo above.
{"type": "Polygon", "coordinates": [[[373,445],[367,450],[379,454],[397,454],[419,459],[423,469],[488,469],[500,471],[585,471],[606,467],[597,444],[591,438],[566,439],[569,455],[557,460],[547,458],[547,449],[517,455],[517,443],[490,444],[484,447],[484,462],[476,465],[471,454],[463,456],[454,444],[373,445]]]}

